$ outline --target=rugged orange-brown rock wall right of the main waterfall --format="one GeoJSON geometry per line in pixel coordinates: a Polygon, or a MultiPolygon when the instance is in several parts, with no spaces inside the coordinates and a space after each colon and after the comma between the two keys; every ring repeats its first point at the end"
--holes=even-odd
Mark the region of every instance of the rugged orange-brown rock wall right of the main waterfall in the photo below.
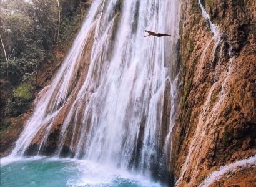
{"type": "Polygon", "coordinates": [[[256,2],[202,4],[220,35],[199,1],[182,1],[182,88],[170,161],[177,186],[198,186],[220,166],[256,153],[256,2]]]}

